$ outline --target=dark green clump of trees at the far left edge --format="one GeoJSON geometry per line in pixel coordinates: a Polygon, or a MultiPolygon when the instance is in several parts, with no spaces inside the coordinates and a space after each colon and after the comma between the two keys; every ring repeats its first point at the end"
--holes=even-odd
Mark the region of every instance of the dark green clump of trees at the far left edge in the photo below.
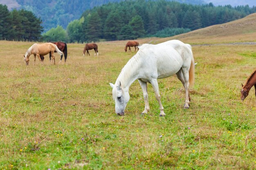
{"type": "Polygon", "coordinates": [[[38,41],[43,27],[40,18],[25,10],[9,11],[6,5],[0,4],[0,40],[38,41]]]}

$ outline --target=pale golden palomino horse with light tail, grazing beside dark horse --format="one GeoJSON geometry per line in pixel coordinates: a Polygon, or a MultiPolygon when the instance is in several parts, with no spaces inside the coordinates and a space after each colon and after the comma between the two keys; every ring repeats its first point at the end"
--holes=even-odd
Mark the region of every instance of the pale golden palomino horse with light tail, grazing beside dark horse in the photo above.
{"type": "Polygon", "coordinates": [[[55,57],[54,57],[54,51],[57,51],[59,55],[63,55],[63,53],[58,49],[58,47],[55,44],[52,44],[50,42],[43,43],[43,44],[33,44],[29,49],[27,50],[26,54],[24,55],[24,60],[26,64],[29,64],[29,56],[31,54],[34,54],[34,62],[36,63],[36,56],[41,61],[41,64],[43,64],[40,55],[46,55],[48,53],[52,54],[52,62],[55,64],[55,57]]]}

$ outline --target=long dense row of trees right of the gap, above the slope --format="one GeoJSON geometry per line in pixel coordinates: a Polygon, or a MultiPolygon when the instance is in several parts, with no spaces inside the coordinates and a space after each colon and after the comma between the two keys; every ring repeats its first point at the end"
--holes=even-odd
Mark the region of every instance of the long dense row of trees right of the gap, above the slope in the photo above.
{"type": "MultiPolygon", "coordinates": [[[[165,0],[122,1],[85,11],[80,20],[68,24],[65,38],[68,42],[90,42],[168,37],[237,20],[254,12],[256,7],[249,6],[214,7],[212,3],[191,5],[165,0]]],[[[56,34],[52,33],[56,32],[54,29],[50,31],[56,34]]],[[[43,37],[48,35],[47,32],[43,37]]]]}

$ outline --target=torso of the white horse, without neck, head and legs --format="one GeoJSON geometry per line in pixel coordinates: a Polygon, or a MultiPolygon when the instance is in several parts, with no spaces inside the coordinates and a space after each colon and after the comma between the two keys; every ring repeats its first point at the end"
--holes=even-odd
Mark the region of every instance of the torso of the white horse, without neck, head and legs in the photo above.
{"type": "MultiPolygon", "coordinates": [[[[157,70],[157,78],[166,78],[176,74],[182,67],[189,68],[193,57],[191,46],[179,40],[171,40],[160,44],[143,44],[136,55],[145,60],[141,72],[153,73],[157,70]],[[187,60],[189,58],[189,60],[187,60]]],[[[153,73],[154,78],[156,74],[153,73]]]]}

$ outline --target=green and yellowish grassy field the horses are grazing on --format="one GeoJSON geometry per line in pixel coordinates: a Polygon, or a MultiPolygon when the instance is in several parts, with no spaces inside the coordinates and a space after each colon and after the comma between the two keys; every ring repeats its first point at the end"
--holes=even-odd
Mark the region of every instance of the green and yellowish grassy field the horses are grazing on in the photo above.
{"type": "Polygon", "coordinates": [[[166,117],[159,117],[151,85],[150,112],[141,116],[137,81],[120,117],[109,82],[135,54],[124,52],[125,41],[98,43],[97,57],[93,51],[83,57],[84,44],[68,44],[66,64],[56,54],[56,65],[48,56],[34,65],[31,56],[26,66],[23,55],[32,44],[0,41],[1,170],[256,169],[254,89],[240,101],[241,83],[255,69],[255,45],[193,46],[198,64],[189,109],[183,109],[184,88],[173,76],[159,79],[166,117]]]}

